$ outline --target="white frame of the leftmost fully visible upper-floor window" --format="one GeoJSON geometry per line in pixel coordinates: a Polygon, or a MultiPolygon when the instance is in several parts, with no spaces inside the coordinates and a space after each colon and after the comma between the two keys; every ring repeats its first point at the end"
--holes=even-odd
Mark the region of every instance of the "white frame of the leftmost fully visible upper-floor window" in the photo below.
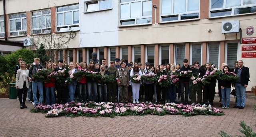
{"type": "MultiPolygon", "coordinates": [[[[26,29],[22,29],[24,26],[22,25],[22,20],[26,20],[26,16],[25,17],[19,17],[20,15],[26,15],[26,12],[23,13],[16,13],[17,18],[11,18],[11,16],[14,16],[15,14],[10,14],[9,15],[9,30],[10,30],[10,37],[12,36],[19,36],[19,35],[27,35],[27,26],[26,29]],[[11,24],[10,21],[14,21],[14,29],[16,29],[16,20],[20,20],[21,21],[21,30],[11,30],[11,24]]],[[[27,25],[27,21],[26,21],[26,25],[27,25]]]]}

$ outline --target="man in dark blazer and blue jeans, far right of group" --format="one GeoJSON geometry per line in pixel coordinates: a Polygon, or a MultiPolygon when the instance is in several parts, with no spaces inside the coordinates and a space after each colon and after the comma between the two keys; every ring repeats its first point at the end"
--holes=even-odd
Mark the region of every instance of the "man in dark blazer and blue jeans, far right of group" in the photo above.
{"type": "Polygon", "coordinates": [[[236,106],[233,108],[244,108],[245,104],[245,90],[249,82],[250,72],[248,67],[244,67],[242,60],[238,61],[238,67],[235,68],[235,74],[239,77],[232,86],[236,89],[236,106]]]}

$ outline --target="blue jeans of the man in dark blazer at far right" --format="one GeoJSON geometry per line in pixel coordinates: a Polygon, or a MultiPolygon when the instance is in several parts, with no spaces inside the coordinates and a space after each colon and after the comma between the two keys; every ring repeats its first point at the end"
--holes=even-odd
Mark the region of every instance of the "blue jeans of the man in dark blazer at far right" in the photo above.
{"type": "Polygon", "coordinates": [[[236,89],[236,106],[244,107],[245,104],[245,87],[242,84],[235,84],[236,89]]]}

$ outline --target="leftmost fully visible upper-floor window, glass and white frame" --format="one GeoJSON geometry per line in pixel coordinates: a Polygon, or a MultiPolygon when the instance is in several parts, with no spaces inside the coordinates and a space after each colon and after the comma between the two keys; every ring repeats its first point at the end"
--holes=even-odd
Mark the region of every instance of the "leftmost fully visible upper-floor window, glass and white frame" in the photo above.
{"type": "Polygon", "coordinates": [[[27,34],[26,13],[11,14],[9,16],[9,21],[10,21],[10,36],[27,34]]]}

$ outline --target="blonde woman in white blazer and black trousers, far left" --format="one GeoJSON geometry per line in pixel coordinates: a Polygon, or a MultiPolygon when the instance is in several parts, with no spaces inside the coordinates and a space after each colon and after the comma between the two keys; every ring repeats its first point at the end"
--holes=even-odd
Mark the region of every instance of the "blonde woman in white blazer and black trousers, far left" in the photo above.
{"type": "Polygon", "coordinates": [[[19,100],[20,100],[20,109],[27,108],[25,105],[26,97],[28,93],[28,79],[30,78],[28,76],[29,71],[26,68],[26,62],[22,61],[20,63],[20,69],[17,71],[16,75],[16,89],[19,90],[19,100]],[[23,100],[22,100],[22,94],[23,94],[23,100]]]}

